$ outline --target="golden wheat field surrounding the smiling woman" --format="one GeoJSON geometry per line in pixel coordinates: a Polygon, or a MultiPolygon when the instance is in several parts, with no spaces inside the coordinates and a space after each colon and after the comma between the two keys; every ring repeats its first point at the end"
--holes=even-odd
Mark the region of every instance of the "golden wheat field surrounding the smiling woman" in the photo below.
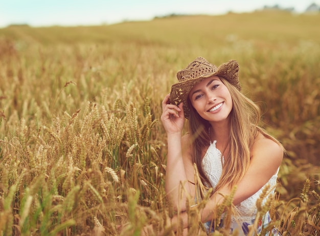
{"type": "Polygon", "coordinates": [[[0,235],[172,235],[161,101],[198,56],[239,62],[288,151],[269,227],[320,235],[318,22],[267,11],[0,29],[0,235]]]}

